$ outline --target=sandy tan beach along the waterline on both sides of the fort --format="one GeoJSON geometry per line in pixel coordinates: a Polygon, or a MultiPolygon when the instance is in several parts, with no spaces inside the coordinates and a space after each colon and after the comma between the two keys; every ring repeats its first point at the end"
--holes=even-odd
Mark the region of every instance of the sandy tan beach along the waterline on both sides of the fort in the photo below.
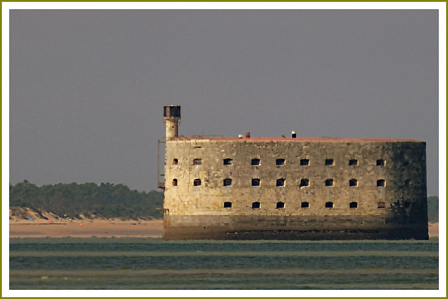
{"type": "MultiPolygon", "coordinates": [[[[429,237],[439,235],[439,224],[428,223],[429,237]]],[[[10,219],[9,238],[162,238],[163,220],[10,219]]]]}

